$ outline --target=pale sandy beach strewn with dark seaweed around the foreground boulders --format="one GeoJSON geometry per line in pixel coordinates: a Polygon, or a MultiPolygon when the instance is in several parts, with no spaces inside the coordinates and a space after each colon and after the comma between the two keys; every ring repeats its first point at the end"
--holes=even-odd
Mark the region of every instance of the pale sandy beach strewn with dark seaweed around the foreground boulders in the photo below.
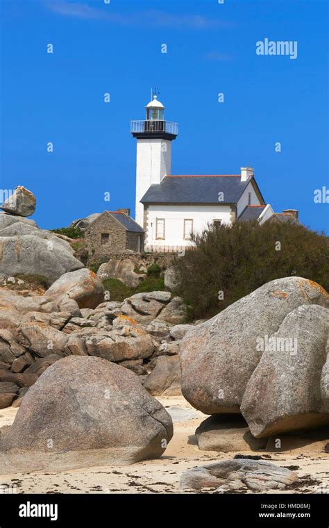
{"type": "MultiPolygon", "coordinates": [[[[193,409],[183,396],[158,399],[174,422],[174,438],[160,459],[115,467],[3,475],[0,485],[12,486],[14,493],[190,493],[179,488],[183,471],[233,458],[237,452],[200,451],[194,432],[206,416],[193,409]]],[[[14,408],[1,409],[0,428],[10,425],[16,413],[14,408]]],[[[299,477],[298,486],[284,493],[328,493],[329,458],[323,452],[325,444],[326,441],[321,440],[288,452],[249,451],[241,454],[265,455],[273,463],[294,469],[299,477]]]]}

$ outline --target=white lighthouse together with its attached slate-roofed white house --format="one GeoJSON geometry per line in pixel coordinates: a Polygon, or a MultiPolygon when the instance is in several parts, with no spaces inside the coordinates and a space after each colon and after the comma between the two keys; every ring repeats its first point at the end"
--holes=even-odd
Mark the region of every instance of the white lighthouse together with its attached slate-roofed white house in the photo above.
{"type": "Polygon", "coordinates": [[[145,108],[146,118],[132,121],[130,130],[137,139],[135,219],[144,228],[146,251],[192,245],[191,233],[209,223],[263,223],[273,215],[251,167],[242,167],[240,174],[171,174],[178,124],[165,120],[156,95],[145,108]]]}

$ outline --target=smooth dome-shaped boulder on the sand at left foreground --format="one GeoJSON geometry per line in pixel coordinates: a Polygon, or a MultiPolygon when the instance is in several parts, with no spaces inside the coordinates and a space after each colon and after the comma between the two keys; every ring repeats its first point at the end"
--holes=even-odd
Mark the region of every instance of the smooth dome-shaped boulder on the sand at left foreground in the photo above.
{"type": "Polygon", "coordinates": [[[130,370],[96,357],[53,363],[0,442],[0,472],[129,464],[162,455],[171,417],[130,370]]]}

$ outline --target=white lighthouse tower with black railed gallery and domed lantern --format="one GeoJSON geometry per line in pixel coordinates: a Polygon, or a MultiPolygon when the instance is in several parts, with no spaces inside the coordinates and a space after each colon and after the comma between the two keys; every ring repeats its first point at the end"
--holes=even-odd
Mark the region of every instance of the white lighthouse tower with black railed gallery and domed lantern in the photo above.
{"type": "Polygon", "coordinates": [[[142,227],[144,207],[140,200],[150,185],[160,185],[162,178],[170,174],[171,141],[178,135],[178,124],[165,121],[165,106],[156,95],[145,109],[145,119],[132,121],[130,127],[137,139],[135,220],[142,227]]]}

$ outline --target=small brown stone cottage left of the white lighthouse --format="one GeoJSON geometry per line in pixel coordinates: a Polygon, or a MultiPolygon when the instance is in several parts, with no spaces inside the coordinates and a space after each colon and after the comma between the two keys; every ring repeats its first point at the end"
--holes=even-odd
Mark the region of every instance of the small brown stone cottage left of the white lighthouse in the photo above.
{"type": "Polygon", "coordinates": [[[125,251],[142,252],[144,229],[129,215],[129,209],[104,211],[85,229],[85,249],[101,258],[125,251]]]}

